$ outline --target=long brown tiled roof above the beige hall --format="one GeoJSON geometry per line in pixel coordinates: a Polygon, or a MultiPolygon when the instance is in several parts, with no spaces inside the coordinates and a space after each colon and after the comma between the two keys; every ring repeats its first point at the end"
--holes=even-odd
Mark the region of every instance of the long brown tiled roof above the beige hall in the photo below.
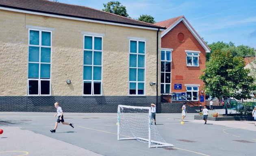
{"type": "Polygon", "coordinates": [[[86,6],[64,4],[59,2],[52,2],[49,0],[0,0],[0,6],[11,9],[20,9],[24,11],[33,11],[89,20],[163,29],[161,26],[133,20],[131,18],[92,9],[86,6]]]}

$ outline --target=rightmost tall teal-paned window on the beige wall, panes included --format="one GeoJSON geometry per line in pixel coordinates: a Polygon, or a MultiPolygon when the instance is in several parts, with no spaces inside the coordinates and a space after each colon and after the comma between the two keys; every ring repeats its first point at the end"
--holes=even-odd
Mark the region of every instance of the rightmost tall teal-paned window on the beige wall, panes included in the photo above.
{"type": "Polygon", "coordinates": [[[145,41],[130,40],[129,95],[145,94],[145,41]]]}

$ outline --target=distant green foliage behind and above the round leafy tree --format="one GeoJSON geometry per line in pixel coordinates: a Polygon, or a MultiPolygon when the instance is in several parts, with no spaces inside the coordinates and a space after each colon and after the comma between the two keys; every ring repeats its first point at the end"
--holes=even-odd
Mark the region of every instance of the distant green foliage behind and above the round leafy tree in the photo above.
{"type": "Polygon", "coordinates": [[[206,61],[210,60],[210,56],[213,52],[221,50],[223,52],[230,51],[232,56],[249,56],[254,55],[254,48],[250,48],[247,45],[239,45],[235,46],[234,43],[223,43],[223,41],[213,42],[212,44],[208,44],[208,47],[211,49],[211,52],[206,54],[206,61]]]}

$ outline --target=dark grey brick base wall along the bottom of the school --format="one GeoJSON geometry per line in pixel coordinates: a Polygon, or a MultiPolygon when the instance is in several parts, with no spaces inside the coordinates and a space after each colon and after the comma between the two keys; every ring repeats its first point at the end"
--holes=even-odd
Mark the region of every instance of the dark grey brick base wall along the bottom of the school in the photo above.
{"type": "MultiPolygon", "coordinates": [[[[157,113],[181,113],[181,103],[160,103],[157,113]]],[[[1,96],[0,111],[55,112],[54,103],[59,102],[64,112],[116,113],[117,106],[150,106],[156,104],[156,96],[1,96]]],[[[196,113],[187,106],[188,113],[196,113]]]]}

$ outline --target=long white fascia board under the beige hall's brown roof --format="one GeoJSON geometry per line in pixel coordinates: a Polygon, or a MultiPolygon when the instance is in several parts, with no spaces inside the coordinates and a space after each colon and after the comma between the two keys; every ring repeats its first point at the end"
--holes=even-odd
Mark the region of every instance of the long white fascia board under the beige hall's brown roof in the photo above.
{"type": "MultiPolygon", "coordinates": [[[[18,12],[18,13],[28,13],[32,15],[41,15],[41,16],[48,16],[48,17],[56,17],[56,18],[63,18],[63,19],[68,19],[68,20],[76,20],[76,21],[84,21],[84,22],[93,22],[93,23],[100,23],[100,24],[109,24],[109,25],[115,25],[115,26],[126,26],[126,27],[131,27],[131,28],[141,28],[141,29],[148,29],[148,30],[158,30],[158,28],[151,28],[151,27],[146,27],[146,26],[134,26],[130,24],[119,24],[119,23],[114,23],[114,22],[105,22],[105,21],[98,21],[98,20],[89,20],[89,19],[84,19],[84,18],[78,18],[78,17],[69,17],[69,16],[62,16],[62,15],[54,15],[50,13],[39,13],[39,12],[34,12],[34,11],[26,11],[26,10],[20,10],[20,9],[12,9],[12,8],[6,8],[0,6],[0,10],[6,10],[6,11],[13,11],[13,12],[18,12]]],[[[165,29],[159,28],[160,31],[164,31],[165,29]]]]}

